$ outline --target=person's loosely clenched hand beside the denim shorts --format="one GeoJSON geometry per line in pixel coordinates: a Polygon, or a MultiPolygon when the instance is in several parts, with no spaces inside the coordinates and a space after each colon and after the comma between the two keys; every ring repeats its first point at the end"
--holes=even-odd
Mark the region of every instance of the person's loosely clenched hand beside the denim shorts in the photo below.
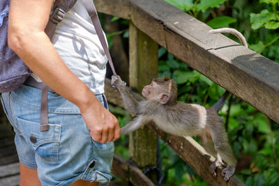
{"type": "Polygon", "coordinates": [[[117,118],[105,109],[98,100],[94,104],[90,104],[86,109],[80,109],[80,111],[94,141],[105,144],[120,137],[117,118]]]}

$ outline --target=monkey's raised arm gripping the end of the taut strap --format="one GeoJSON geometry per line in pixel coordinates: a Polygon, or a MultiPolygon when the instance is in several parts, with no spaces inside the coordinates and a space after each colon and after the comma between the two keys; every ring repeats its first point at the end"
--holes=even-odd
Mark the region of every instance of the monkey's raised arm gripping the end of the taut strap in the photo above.
{"type": "Polygon", "coordinates": [[[137,100],[135,100],[130,90],[126,87],[125,84],[123,84],[122,79],[118,75],[112,76],[112,85],[116,86],[116,88],[121,93],[121,97],[126,106],[126,109],[128,109],[132,116],[136,116],[139,110],[137,109],[139,103],[137,102],[137,100]]]}

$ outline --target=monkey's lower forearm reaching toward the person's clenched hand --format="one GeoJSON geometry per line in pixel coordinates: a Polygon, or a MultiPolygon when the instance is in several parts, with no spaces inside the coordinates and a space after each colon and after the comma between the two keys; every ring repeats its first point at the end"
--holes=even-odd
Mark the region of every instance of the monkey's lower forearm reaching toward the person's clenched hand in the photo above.
{"type": "Polygon", "coordinates": [[[137,118],[133,119],[133,121],[130,121],[127,125],[124,127],[121,127],[121,134],[128,134],[130,132],[133,132],[137,130],[140,127],[144,127],[144,125],[148,122],[149,120],[146,119],[144,116],[138,116],[137,118]]]}

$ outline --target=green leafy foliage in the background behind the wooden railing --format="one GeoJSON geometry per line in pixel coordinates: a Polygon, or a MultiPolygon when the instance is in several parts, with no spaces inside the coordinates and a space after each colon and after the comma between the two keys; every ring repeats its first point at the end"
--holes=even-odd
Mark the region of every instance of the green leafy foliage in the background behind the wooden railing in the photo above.
{"type": "MultiPolygon", "coordinates": [[[[278,0],[165,1],[214,29],[230,26],[241,31],[250,49],[279,61],[278,0]],[[220,6],[225,10],[217,11],[220,6]]],[[[128,33],[125,33],[127,37],[128,33]]],[[[176,81],[179,101],[209,107],[225,92],[210,79],[167,53],[163,47],[158,50],[158,58],[159,77],[167,75],[176,81]]],[[[234,96],[232,104],[229,106],[227,102],[219,114],[224,121],[228,121],[229,141],[239,162],[236,176],[246,185],[279,185],[279,125],[234,96]]],[[[124,118],[119,116],[121,125],[128,122],[128,116],[124,118]]],[[[120,141],[116,143],[124,145],[116,145],[116,153],[128,158],[128,139],[121,137],[120,141]]],[[[207,185],[163,141],[160,141],[160,150],[164,185],[207,185]]]]}

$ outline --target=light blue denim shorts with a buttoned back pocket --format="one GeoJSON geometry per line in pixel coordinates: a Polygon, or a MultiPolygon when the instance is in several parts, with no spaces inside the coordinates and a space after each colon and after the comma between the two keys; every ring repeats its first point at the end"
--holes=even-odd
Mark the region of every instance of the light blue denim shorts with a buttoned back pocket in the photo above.
{"type": "MultiPolygon", "coordinates": [[[[50,130],[40,132],[40,95],[40,89],[26,85],[1,95],[15,130],[20,162],[37,169],[42,185],[70,185],[79,179],[109,182],[114,143],[93,141],[80,109],[51,91],[48,91],[50,130]]],[[[96,97],[107,107],[103,94],[96,97]]]]}

